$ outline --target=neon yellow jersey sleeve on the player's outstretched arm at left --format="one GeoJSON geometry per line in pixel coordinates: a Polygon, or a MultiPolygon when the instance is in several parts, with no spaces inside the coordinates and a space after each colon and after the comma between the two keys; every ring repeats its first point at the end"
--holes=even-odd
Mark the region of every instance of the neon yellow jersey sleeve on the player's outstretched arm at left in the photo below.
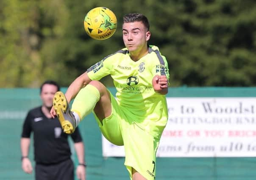
{"type": "Polygon", "coordinates": [[[107,56],[87,70],[91,80],[99,81],[101,78],[112,73],[113,58],[107,56]]]}

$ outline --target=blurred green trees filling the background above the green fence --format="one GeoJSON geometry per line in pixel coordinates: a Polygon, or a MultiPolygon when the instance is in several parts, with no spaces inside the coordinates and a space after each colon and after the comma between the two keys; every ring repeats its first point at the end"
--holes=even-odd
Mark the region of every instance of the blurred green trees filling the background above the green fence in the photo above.
{"type": "MultiPolygon", "coordinates": [[[[149,44],[167,57],[171,86],[255,86],[254,0],[1,0],[0,88],[68,86],[88,67],[120,48],[122,16],[143,13],[149,44]],[[89,38],[86,13],[110,8],[118,28],[108,40],[89,38]]],[[[109,77],[102,81],[113,86],[109,77]]]]}

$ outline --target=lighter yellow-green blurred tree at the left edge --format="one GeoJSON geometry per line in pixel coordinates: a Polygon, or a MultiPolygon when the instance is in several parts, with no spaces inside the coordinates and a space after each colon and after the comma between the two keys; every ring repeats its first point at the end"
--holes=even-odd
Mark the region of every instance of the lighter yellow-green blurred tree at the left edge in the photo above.
{"type": "Polygon", "coordinates": [[[42,47],[64,34],[63,2],[3,0],[0,12],[0,87],[39,86],[47,60],[42,47]]]}

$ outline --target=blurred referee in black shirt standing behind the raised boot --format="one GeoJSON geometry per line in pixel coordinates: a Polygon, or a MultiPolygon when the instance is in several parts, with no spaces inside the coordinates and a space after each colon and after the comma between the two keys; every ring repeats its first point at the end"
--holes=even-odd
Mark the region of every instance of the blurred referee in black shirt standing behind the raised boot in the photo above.
{"type": "MultiPolygon", "coordinates": [[[[53,119],[50,115],[53,96],[57,91],[59,86],[55,81],[45,81],[40,87],[42,105],[30,110],[23,124],[20,140],[22,169],[29,174],[33,171],[28,159],[33,132],[36,180],[74,180],[68,134],[62,132],[58,118],[53,119]]],[[[80,180],[85,180],[84,146],[79,129],[75,129],[71,137],[79,161],[76,173],[80,180]]]]}

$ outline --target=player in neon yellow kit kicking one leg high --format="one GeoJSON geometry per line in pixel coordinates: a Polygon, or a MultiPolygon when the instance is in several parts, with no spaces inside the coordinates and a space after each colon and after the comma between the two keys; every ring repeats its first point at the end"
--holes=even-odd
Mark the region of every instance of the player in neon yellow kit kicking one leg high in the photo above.
{"type": "Polygon", "coordinates": [[[130,178],[153,180],[156,150],[168,118],[168,65],[159,48],[147,44],[150,31],[144,15],[125,15],[122,37],[126,48],[90,67],[71,83],[65,95],[55,94],[51,114],[58,116],[64,132],[72,133],[93,111],[104,137],[124,145],[130,178]],[[114,80],[116,99],[99,81],[106,75],[114,80]]]}

